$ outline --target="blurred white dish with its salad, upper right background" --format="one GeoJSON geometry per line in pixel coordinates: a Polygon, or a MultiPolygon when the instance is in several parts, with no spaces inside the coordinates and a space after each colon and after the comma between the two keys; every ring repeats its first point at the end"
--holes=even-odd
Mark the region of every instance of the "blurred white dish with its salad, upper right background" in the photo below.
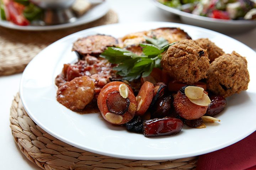
{"type": "Polygon", "coordinates": [[[186,24],[222,33],[243,33],[256,27],[254,0],[152,0],[186,24]]]}

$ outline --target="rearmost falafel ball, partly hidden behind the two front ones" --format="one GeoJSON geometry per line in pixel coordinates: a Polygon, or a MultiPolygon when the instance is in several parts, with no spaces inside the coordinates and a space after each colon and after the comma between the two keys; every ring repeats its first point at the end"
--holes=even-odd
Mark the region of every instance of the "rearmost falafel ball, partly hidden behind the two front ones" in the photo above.
{"type": "Polygon", "coordinates": [[[215,45],[214,42],[210,41],[208,38],[200,38],[195,41],[200,47],[207,50],[210,63],[213,62],[215,58],[218,58],[225,53],[220,47],[215,45]]]}

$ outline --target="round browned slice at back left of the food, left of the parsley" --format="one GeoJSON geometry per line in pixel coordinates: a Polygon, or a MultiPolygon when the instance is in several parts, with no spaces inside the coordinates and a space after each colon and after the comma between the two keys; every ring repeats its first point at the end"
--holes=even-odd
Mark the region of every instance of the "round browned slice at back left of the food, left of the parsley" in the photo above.
{"type": "Polygon", "coordinates": [[[106,47],[117,46],[118,41],[110,35],[90,35],[80,38],[73,44],[72,51],[78,53],[80,58],[85,57],[87,54],[98,57],[106,47]]]}

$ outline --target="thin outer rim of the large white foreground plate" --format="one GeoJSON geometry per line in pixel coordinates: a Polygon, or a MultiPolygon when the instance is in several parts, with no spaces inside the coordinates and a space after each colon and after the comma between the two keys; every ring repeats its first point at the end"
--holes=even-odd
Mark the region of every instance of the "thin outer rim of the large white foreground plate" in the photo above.
{"type": "MultiPolygon", "coordinates": [[[[184,26],[188,26],[188,27],[196,27],[196,26],[190,26],[190,25],[187,25],[187,24],[170,23],[170,22],[154,22],[154,21],[153,21],[153,22],[144,22],[144,23],[152,23],[152,24],[154,24],[154,23],[166,23],[166,24],[184,25],[184,26]]],[[[109,25],[125,25],[125,24],[123,24],[123,23],[116,23],[116,24],[109,24],[109,25]]],[[[108,27],[109,25],[98,26],[98,27],[108,27]]],[[[95,28],[95,27],[94,27],[94,28],[95,28]]],[[[73,33],[73,34],[80,34],[80,33],[85,32],[85,31],[93,30],[94,28],[89,28],[89,29],[86,29],[86,30],[81,30],[81,31],[76,32],[76,33],[73,33]]],[[[200,29],[205,29],[205,28],[201,28],[201,27],[198,27],[198,28],[200,28],[200,29]]],[[[209,29],[205,29],[205,30],[210,31],[210,32],[214,32],[215,34],[221,34],[221,33],[215,32],[215,31],[213,31],[213,30],[209,30],[209,29]]],[[[70,34],[70,35],[68,35],[68,36],[65,36],[64,38],[59,39],[59,40],[53,42],[52,44],[55,44],[55,43],[64,41],[65,39],[68,39],[68,38],[74,36],[73,34],[70,34]]],[[[221,35],[222,35],[222,36],[227,36],[227,35],[224,35],[224,34],[221,34],[221,35]]],[[[228,38],[231,38],[231,37],[229,37],[229,36],[227,36],[227,37],[228,37],[228,38]]],[[[231,38],[231,39],[235,40],[234,38],[231,38]]],[[[235,41],[238,41],[238,40],[235,40],[235,41]]],[[[240,42],[240,41],[238,41],[238,42],[240,42]]],[[[242,43],[242,42],[240,42],[240,43],[242,43]]],[[[52,44],[50,44],[49,46],[51,46],[52,44]]],[[[243,43],[242,43],[242,44],[243,44],[243,43]]],[[[245,45],[245,44],[243,44],[243,45],[245,45]]],[[[47,48],[48,48],[49,46],[47,46],[44,50],[47,50],[47,48]]],[[[251,49],[251,48],[248,47],[247,45],[245,45],[245,46],[246,46],[247,48],[251,49]]],[[[44,50],[42,50],[41,52],[43,52],[44,50]]],[[[252,50],[252,49],[251,49],[251,50],[252,50]]],[[[254,50],[252,50],[252,51],[255,53],[254,50]]],[[[40,53],[41,53],[41,52],[40,52],[40,53]]],[[[37,55],[37,56],[38,56],[38,55],[37,55]]],[[[34,57],[34,58],[32,59],[32,61],[33,61],[33,60],[36,60],[35,58],[37,58],[37,56],[34,57]]],[[[30,62],[30,63],[31,63],[31,62],[30,62]]],[[[30,63],[29,63],[29,64],[30,64],[30,63]]],[[[29,66],[29,64],[28,64],[28,66],[29,66]]],[[[27,67],[28,67],[28,66],[27,66],[27,67]]],[[[25,70],[27,69],[27,67],[25,68],[25,70]]],[[[21,81],[20,81],[20,96],[21,96],[21,101],[22,101],[22,103],[23,103],[23,106],[24,106],[25,110],[27,111],[28,115],[31,117],[31,113],[30,113],[30,111],[29,111],[30,109],[27,108],[26,103],[24,103],[24,100],[23,100],[23,97],[22,97],[22,96],[23,96],[23,95],[22,95],[22,93],[23,93],[23,91],[22,91],[22,81],[23,81],[23,74],[22,74],[22,78],[21,78],[21,81]]],[[[38,126],[40,126],[40,127],[42,126],[40,123],[38,123],[38,121],[37,121],[36,119],[34,119],[33,116],[31,117],[31,119],[32,119],[33,121],[35,121],[38,126]]],[[[41,128],[42,128],[43,130],[46,130],[44,127],[41,127],[41,128]]],[[[91,148],[86,148],[86,149],[85,149],[84,147],[82,147],[81,145],[79,145],[79,144],[76,143],[76,142],[70,143],[69,140],[66,140],[66,139],[64,139],[63,137],[59,137],[58,135],[56,136],[56,135],[55,135],[54,133],[52,133],[51,131],[50,131],[50,132],[49,132],[48,130],[46,130],[46,131],[47,131],[50,135],[53,135],[54,137],[58,138],[59,140],[62,140],[62,141],[66,142],[66,143],[68,143],[68,144],[70,144],[70,145],[72,145],[72,146],[75,146],[75,147],[84,149],[84,150],[89,151],[89,152],[94,152],[94,153],[98,153],[98,154],[103,154],[103,155],[107,155],[107,156],[111,156],[111,157],[125,158],[125,159],[163,160],[163,159],[176,159],[176,158],[177,158],[177,159],[180,159],[180,158],[192,157],[192,156],[196,156],[196,155],[200,155],[200,154],[204,154],[204,153],[213,152],[213,151],[222,149],[222,148],[224,148],[224,147],[226,147],[226,146],[233,145],[234,143],[236,143],[236,142],[242,140],[243,138],[247,137],[248,135],[250,135],[250,134],[251,134],[252,132],[254,132],[255,130],[256,130],[256,127],[255,127],[253,130],[248,131],[247,133],[245,133],[245,134],[243,135],[243,137],[240,138],[239,140],[237,140],[237,138],[236,138],[235,140],[232,140],[231,144],[230,144],[230,141],[227,142],[227,143],[229,143],[229,144],[222,143],[222,145],[218,146],[217,149],[216,149],[216,147],[215,147],[215,148],[213,148],[213,149],[208,150],[207,152],[205,152],[205,151],[202,151],[202,152],[193,152],[193,153],[189,153],[189,154],[186,154],[186,155],[179,155],[179,156],[176,155],[176,157],[172,157],[172,158],[170,158],[169,155],[167,156],[168,158],[167,158],[167,157],[156,158],[156,157],[154,157],[154,156],[148,156],[148,157],[146,157],[146,158],[142,158],[142,157],[136,157],[136,156],[135,156],[135,157],[134,157],[134,156],[126,156],[126,155],[121,155],[121,154],[118,155],[118,154],[112,154],[112,153],[104,153],[104,152],[96,151],[96,150],[91,149],[91,148]]]]}

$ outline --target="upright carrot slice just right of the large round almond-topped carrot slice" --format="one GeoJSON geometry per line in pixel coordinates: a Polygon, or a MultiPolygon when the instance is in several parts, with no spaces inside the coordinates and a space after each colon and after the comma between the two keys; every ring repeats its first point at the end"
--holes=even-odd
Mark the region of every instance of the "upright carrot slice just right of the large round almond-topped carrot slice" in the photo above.
{"type": "Polygon", "coordinates": [[[148,110],[150,103],[153,99],[154,94],[154,85],[149,81],[143,83],[140,87],[139,93],[136,97],[137,99],[137,116],[143,116],[145,112],[148,110]]]}

